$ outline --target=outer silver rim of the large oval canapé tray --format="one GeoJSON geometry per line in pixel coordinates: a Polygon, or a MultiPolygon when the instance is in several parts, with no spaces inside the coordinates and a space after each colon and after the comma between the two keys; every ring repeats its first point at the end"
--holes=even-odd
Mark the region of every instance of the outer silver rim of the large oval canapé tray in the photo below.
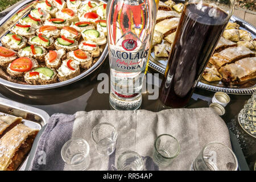
{"type": "MultiPolygon", "coordinates": [[[[2,20],[0,20],[0,26],[2,26],[3,23],[5,23],[12,15],[14,15],[17,11],[22,9],[23,6],[28,5],[28,3],[32,2],[34,0],[27,0],[24,1],[23,3],[20,3],[20,5],[16,6],[13,10],[10,11],[2,20]]],[[[93,0],[95,2],[104,2],[104,0],[93,0]]],[[[11,27],[10,27],[11,28],[11,27]]],[[[1,38],[0,38],[1,39],[1,38]]],[[[52,89],[52,88],[57,88],[60,86],[72,84],[73,82],[76,82],[78,80],[81,80],[82,78],[89,76],[92,72],[94,72],[102,63],[104,63],[104,60],[108,56],[108,45],[106,44],[104,51],[101,53],[101,56],[99,57],[98,61],[88,70],[82,72],[79,76],[76,76],[75,78],[62,81],[62,82],[57,82],[55,84],[49,84],[49,85],[23,85],[23,84],[17,84],[11,81],[7,81],[3,78],[0,78],[0,84],[8,86],[10,88],[15,88],[15,89],[22,89],[22,90],[44,90],[44,89],[52,89]]]]}

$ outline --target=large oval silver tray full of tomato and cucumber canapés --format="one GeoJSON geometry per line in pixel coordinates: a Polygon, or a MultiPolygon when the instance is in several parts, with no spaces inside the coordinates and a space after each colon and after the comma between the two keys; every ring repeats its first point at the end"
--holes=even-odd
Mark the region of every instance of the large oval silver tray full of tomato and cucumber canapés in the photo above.
{"type": "Polygon", "coordinates": [[[0,84],[11,88],[71,84],[90,75],[108,55],[101,0],[27,0],[0,25],[0,84]]]}

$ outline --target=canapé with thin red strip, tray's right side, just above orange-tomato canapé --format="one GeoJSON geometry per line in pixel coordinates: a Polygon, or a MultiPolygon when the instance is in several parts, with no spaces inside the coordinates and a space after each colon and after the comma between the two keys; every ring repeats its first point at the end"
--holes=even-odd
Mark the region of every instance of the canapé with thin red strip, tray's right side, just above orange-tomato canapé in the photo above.
{"type": "Polygon", "coordinates": [[[82,41],[79,44],[79,49],[89,52],[92,57],[98,57],[101,54],[100,47],[94,42],[82,41]]]}

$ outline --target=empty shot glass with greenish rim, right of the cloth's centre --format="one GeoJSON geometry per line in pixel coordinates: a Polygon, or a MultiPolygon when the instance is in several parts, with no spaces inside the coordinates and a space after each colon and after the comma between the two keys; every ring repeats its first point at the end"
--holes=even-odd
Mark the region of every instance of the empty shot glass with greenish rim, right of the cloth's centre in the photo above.
{"type": "Polygon", "coordinates": [[[180,144],[172,135],[159,135],[154,143],[154,162],[158,166],[168,166],[180,153],[180,144]]]}

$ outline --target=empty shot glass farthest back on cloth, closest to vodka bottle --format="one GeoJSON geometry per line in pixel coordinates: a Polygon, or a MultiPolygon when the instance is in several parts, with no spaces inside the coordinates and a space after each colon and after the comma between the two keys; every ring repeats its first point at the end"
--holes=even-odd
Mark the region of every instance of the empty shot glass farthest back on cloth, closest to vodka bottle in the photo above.
{"type": "Polygon", "coordinates": [[[111,155],[117,142],[117,130],[110,123],[100,123],[92,130],[92,139],[100,155],[111,155]]]}

